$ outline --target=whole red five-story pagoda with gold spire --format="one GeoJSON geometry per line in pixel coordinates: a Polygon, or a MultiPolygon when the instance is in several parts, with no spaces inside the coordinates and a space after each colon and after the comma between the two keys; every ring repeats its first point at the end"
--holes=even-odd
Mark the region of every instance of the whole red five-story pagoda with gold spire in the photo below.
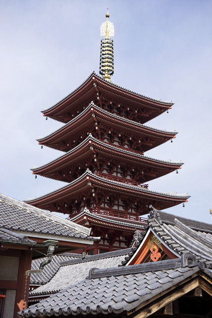
{"type": "Polygon", "coordinates": [[[27,203],[67,214],[92,227],[101,236],[89,253],[129,246],[135,229],[143,229],[140,216],[151,204],[156,209],[187,201],[188,195],[153,192],[146,182],[180,169],[181,162],[155,160],[144,152],[175,138],[175,131],[144,125],[169,110],[173,103],[155,100],[112,83],[114,25],[101,25],[100,70],[43,116],[64,123],[38,139],[64,152],[32,173],[66,182],[65,186],[27,203]]]}

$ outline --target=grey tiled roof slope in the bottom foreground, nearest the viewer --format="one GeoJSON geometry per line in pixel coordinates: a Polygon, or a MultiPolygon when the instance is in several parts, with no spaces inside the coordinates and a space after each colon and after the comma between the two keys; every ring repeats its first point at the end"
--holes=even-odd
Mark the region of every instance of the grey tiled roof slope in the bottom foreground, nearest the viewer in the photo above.
{"type": "MultiPolygon", "coordinates": [[[[165,262],[165,264],[170,266],[171,262],[165,262]]],[[[175,262],[172,262],[172,264],[174,267],[175,262]]],[[[156,267],[152,266],[151,271],[146,272],[144,275],[142,273],[142,267],[139,267],[139,265],[134,267],[140,269],[141,272],[124,276],[83,280],[76,285],[72,285],[58,294],[51,295],[48,299],[44,299],[42,302],[31,306],[30,310],[32,315],[35,315],[36,312],[37,316],[41,316],[44,308],[47,310],[52,309],[51,313],[55,315],[67,315],[68,307],[70,308],[69,313],[71,315],[80,314],[82,312],[84,314],[97,314],[98,312],[103,312],[104,314],[112,312],[120,314],[123,311],[132,310],[143,301],[160,294],[163,290],[168,290],[173,284],[178,284],[185,279],[184,275],[179,271],[180,268],[154,271],[156,267]],[[147,273],[148,275],[146,275],[147,273]],[[162,284],[162,282],[160,282],[160,276],[163,274],[167,276],[172,275],[175,278],[171,281],[164,281],[162,284]],[[152,275],[155,276],[153,280],[146,280],[147,276],[150,277],[152,275]],[[96,292],[96,283],[99,284],[100,293],[96,292]],[[126,285],[128,288],[123,288],[123,286],[126,285]],[[136,286],[137,289],[134,289],[134,286],[136,286]],[[60,308],[63,308],[63,310],[61,311],[60,308]]],[[[187,268],[186,275],[191,277],[199,271],[198,266],[187,268]]],[[[107,269],[105,269],[105,272],[109,273],[107,269]]],[[[23,310],[22,313],[18,313],[18,316],[21,317],[21,314],[27,316],[27,312],[28,309],[23,310]]]]}

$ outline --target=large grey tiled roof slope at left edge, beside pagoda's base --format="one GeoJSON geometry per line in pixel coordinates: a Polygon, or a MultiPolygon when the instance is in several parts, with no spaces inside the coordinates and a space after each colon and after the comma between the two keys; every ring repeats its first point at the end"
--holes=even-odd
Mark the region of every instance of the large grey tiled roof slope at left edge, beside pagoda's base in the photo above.
{"type": "Polygon", "coordinates": [[[91,240],[90,229],[0,194],[0,226],[10,231],[91,240]]]}

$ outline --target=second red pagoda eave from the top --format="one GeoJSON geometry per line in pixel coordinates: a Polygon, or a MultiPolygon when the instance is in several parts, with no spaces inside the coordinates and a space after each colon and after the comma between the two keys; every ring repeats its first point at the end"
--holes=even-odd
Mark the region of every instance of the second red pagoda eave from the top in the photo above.
{"type": "Polygon", "coordinates": [[[37,139],[37,141],[41,145],[69,151],[70,148],[73,148],[73,142],[81,142],[82,138],[89,133],[96,135],[97,138],[101,136],[103,139],[102,134],[112,134],[121,139],[134,140],[144,149],[143,151],[175,138],[177,134],[177,132],[161,131],[124,119],[103,111],[91,103],[77,118],[51,135],[37,139]]]}

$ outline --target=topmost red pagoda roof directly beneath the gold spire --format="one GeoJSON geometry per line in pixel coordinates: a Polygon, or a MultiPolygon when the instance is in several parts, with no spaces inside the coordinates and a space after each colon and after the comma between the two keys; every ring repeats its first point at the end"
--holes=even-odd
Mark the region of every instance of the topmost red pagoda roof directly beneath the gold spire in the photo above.
{"type": "Polygon", "coordinates": [[[151,111],[148,117],[144,117],[141,120],[145,123],[152,118],[161,115],[172,107],[174,103],[172,101],[161,101],[160,99],[154,99],[142,94],[138,94],[117,84],[102,79],[94,72],[74,91],[69,95],[61,99],[55,105],[42,111],[43,116],[54,118],[61,122],[64,120],[64,115],[70,116],[81,105],[87,106],[91,100],[103,97],[104,99],[113,99],[120,104],[125,103],[136,107],[138,109],[148,109],[151,111]]]}

